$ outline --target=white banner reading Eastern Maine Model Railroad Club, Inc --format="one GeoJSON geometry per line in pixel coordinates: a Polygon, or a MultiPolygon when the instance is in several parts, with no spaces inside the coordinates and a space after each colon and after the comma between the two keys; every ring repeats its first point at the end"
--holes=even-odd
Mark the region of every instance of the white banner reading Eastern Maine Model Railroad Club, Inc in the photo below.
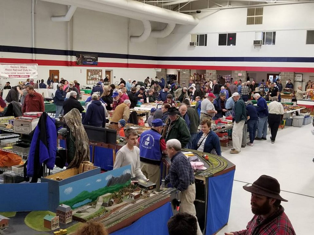
{"type": "Polygon", "coordinates": [[[37,64],[0,64],[0,78],[10,79],[17,78],[26,80],[33,78],[38,79],[38,65],[37,64]]]}

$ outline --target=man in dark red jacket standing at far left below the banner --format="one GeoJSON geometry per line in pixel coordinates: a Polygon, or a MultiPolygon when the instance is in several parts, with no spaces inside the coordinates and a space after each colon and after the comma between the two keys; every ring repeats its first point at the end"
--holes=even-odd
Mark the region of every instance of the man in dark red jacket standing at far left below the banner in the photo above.
{"type": "Polygon", "coordinates": [[[32,85],[26,85],[25,90],[28,94],[25,96],[22,112],[45,112],[44,98],[42,95],[34,91],[32,85]]]}

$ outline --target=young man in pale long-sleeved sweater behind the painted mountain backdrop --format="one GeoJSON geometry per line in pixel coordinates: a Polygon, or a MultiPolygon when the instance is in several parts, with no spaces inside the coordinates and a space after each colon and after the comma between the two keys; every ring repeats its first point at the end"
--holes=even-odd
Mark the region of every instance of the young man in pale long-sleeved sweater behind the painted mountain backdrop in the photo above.
{"type": "Polygon", "coordinates": [[[141,171],[139,148],[136,147],[138,133],[136,130],[129,128],[124,131],[124,134],[127,144],[117,152],[113,169],[131,165],[131,178],[138,177],[139,179],[149,181],[141,171]]]}

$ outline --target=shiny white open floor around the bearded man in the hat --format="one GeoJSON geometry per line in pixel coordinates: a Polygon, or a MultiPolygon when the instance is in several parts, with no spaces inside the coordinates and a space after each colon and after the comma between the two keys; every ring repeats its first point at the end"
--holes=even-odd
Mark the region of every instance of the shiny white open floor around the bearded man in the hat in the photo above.
{"type": "Polygon", "coordinates": [[[270,175],[280,183],[282,202],[296,234],[312,234],[314,223],[314,135],[311,124],[301,128],[286,126],[279,130],[275,144],[256,140],[240,154],[230,154],[232,146],[223,147],[222,155],[236,165],[228,225],[224,232],[245,229],[252,219],[251,194],[242,186],[260,175],[270,175]]]}

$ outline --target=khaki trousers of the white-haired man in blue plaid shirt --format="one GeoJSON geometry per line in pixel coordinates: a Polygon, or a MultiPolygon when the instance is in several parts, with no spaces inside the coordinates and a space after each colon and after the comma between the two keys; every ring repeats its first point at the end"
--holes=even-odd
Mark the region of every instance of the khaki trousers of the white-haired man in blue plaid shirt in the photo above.
{"type": "MultiPolygon", "coordinates": [[[[180,212],[187,212],[196,217],[196,209],[194,206],[196,195],[195,184],[189,185],[186,190],[181,192],[180,212]]],[[[202,231],[197,222],[197,235],[202,235],[202,231]]]]}

